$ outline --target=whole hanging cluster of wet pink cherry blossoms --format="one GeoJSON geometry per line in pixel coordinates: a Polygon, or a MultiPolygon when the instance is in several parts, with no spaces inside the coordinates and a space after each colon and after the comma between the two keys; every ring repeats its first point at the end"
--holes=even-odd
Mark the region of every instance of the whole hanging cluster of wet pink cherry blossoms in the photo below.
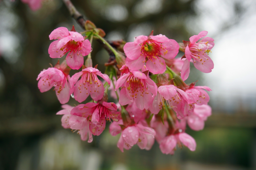
{"type": "Polygon", "coordinates": [[[195,82],[187,85],[184,80],[189,76],[190,63],[203,73],[213,69],[208,54],[214,40],[203,38],[207,31],[183,43],[162,34],[153,35],[152,31],[149,36],[140,35],[134,42],[125,43],[121,50],[112,47],[95,29],[86,31],[87,37],[83,34],[74,27],[71,31],[65,27],[53,30],[49,39],[55,41],[49,46],[49,56],[65,59],[43,70],[37,78],[40,91],[54,87],[63,104],[63,110],[57,112],[63,115],[63,128],[77,131],[83,141],[90,143],[93,135],[100,135],[110,123],[112,136],[121,133],[117,147],[122,152],[136,144],[150,150],[155,139],[164,154],[174,154],[182,146],[194,151],[195,139],[185,129],[187,125],[195,131],[204,128],[211,115],[206,92],[211,89],[196,86],[195,82]],[[114,63],[106,64],[106,74],[97,65],[93,67],[93,39],[103,41],[115,54],[114,63]],[[185,54],[175,58],[179,51],[185,54]],[[71,69],[80,72],[70,76],[71,69]],[[116,104],[108,102],[108,92],[116,104]],[[70,96],[78,103],[74,107],[65,104],[70,96]],[[79,104],[89,96],[90,102],[79,104]]]}

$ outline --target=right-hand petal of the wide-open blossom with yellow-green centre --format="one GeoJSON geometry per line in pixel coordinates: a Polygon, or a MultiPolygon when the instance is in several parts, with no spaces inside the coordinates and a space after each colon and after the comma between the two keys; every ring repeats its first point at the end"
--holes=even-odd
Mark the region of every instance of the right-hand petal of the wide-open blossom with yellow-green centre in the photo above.
{"type": "Polygon", "coordinates": [[[170,41],[163,43],[162,46],[168,50],[167,54],[164,54],[164,50],[160,50],[163,58],[174,59],[179,53],[179,44],[175,40],[170,39],[170,41]]]}

